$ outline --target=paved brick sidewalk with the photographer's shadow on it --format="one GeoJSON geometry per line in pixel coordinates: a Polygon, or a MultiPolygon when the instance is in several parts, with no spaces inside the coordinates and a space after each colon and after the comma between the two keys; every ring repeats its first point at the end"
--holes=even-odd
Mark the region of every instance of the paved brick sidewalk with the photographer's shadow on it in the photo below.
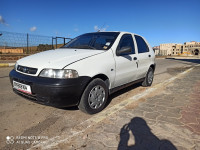
{"type": "Polygon", "coordinates": [[[78,136],[48,148],[198,150],[199,73],[200,67],[195,67],[166,87],[124,107],[78,136]]]}

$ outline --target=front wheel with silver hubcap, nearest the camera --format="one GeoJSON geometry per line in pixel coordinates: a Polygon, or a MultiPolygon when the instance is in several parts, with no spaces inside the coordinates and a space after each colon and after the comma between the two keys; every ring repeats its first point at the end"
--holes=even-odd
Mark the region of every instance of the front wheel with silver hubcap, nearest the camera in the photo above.
{"type": "Polygon", "coordinates": [[[107,99],[108,87],[103,80],[97,78],[85,88],[78,108],[87,114],[95,114],[104,109],[107,99]]]}

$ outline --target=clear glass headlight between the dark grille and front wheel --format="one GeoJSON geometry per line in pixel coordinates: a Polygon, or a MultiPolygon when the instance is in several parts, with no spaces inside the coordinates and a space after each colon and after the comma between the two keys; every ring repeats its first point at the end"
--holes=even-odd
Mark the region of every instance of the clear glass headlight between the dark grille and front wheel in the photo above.
{"type": "Polygon", "coordinates": [[[78,72],[70,69],[43,69],[39,76],[59,79],[78,78],[78,72]]]}

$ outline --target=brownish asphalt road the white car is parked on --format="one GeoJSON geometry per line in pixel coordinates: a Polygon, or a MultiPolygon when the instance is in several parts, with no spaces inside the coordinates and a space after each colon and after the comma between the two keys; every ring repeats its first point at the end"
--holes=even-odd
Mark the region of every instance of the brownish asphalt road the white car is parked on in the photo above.
{"type": "MultiPolygon", "coordinates": [[[[170,79],[196,64],[199,59],[156,59],[153,86],[170,79]]],[[[70,132],[72,128],[92,118],[76,107],[58,109],[30,102],[12,91],[8,74],[12,67],[0,68],[0,148],[8,148],[7,136],[45,136],[50,139],[70,132]]],[[[139,84],[114,93],[105,110],[147,90],[139,84]]],[[[12,145],[9,145],[10,148],[12,145]]],[[[31,144],[15,145],[16,149],[29,148],[31,144]]]]}

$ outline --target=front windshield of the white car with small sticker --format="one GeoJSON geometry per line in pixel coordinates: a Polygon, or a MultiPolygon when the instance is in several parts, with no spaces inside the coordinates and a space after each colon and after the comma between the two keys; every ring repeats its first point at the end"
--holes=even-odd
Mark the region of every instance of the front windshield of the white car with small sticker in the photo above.
{"type": "Polygon", "coordinates": [[[96,32],[80,35],[62,48],[108,50],[119,32],[96,32]]]}

